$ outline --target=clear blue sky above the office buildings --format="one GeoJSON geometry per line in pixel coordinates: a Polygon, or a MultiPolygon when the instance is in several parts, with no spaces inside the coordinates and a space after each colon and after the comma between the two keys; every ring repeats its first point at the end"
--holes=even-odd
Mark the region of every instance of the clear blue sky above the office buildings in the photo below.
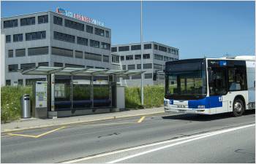
{"type": "MultiPolygon", "coordinates": [[[[140,42],[140,1],[1,1],[1,17],[56,7],[103,21],[112,45],[140,42]]],[[[143,41],[180,59],[255,55],[255,1],[143,1],[143,41]]]]}

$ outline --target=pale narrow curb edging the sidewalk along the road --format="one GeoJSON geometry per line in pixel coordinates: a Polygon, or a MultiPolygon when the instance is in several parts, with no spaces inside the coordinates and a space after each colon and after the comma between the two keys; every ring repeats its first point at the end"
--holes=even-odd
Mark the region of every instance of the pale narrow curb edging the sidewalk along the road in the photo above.
{"type": "Polygon", "coordinates": [[[28,128],[15,128],[15,129],[4,129],[1,131],[1,133],[9,133],[9,132],[14,132],[14,131],[20,131],[20,130],[30,130],[30,129],[37,129],[37,128],[47,128],[47,127],[53,127],[53,126],[59,126],[59,125],[72,125],[72,124],[78,124],[78,123],[84,123],[84,122],[95,122],[95,121],[104,121],[104,120],[115,120],[118,118],[127,118],[127,117],[137,117],[137,116],[148,116],[151,114],[163,114],[165,112],[152,112],[150,114],[133,114],[133,115],[127,115],[127,116],[113,116],[113,117],[106,117],[103,119],[97,119],[97,120],[83,120],[83,121],[75,121],[75,122],[64,122],[64,123],[59,123],[59,124],[50,124],[50,125],[39,125],[39,126],[32,126],[28,128]]]}

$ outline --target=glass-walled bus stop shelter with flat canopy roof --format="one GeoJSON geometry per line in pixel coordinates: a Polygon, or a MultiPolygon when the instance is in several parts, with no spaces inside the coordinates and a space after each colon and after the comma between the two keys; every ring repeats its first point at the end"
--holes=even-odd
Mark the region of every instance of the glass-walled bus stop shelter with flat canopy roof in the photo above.
{"type": "Polygon", "coordinates": [[[135,70],[48,66],[38,66],[20,72],[47,77],[46,82],[37,82],[33,87],[35,98],[32,114],[39,118],[113,112],[113,109],[118,108],[118,98],[124,97],[124,87],[117,85],[118,78],[143,73],[135,70]],[[45,91],[38,87],[42,83],[45,83],[45,91]],[[44,93],[45,97],[40,97],[44,93]],[[42,105],[44,99],[45,106],[42,105]]]}

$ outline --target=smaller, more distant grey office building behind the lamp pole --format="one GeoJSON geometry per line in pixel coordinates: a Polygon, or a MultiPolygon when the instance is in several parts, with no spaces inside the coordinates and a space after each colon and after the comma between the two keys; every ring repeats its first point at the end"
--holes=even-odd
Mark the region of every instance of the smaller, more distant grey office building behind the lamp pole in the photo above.
{"type": "MultiPolygon", "coordinates": [[[[140,70],[141,55],[140,43],[118,44],[111,47],[111,60],[115,68],[122,70],[140,70]]],[[[143,42],[143,85],[164,84],[165,62],[178,60],[178,48],[170,47],[157,42],[143,42]],[[157,72],[156,80],[153,80],[157,72]]],[[[122,78],[121,84],[127,86],[140,86],[141,75],[122,78]]]]}

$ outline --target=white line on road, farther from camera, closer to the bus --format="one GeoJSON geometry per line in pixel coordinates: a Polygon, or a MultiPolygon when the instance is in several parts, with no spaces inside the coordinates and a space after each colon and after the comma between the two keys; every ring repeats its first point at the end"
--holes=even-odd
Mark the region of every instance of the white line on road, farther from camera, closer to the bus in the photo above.
{"type": "MultiPolygon", "coordinates": [[[[255,124],[252,124],[252,125],[255,125],[255,124]]],[[[250,127],[252,125],[241,126],[241,127],[238,127],[238,129],[240,129],[240,128],[247,128],[247,127],[250,127]]],[[[232,129],[233,128],[227,129],[227,130],[232,130],[232,129]]],[[[128,148],[128,149],[121,149],[121,150],[116,150],[116,151],[113,151],[113,152],[106,152],[106,153],[102,153],[102,154],[99,154],[99,155],[93,155],[93,156],[90,156],[90,157],[79,158],[77,160],[68,160],[68,161],[65,161],[64,163],[78,163],[78,162],[83,161],[83,160],[91,160],[91,159],[94,159],[94,158],[97,158],[97,157],[105,157],[105,156],[108,156],[108,155],[115,155],[115,154],[118,154],[118,153],[121,153],[121,152],[128,152],[128,151],[135,150],[135,149],[142,149],[142,148],[146,148],[146,147],[153,147],[153,146],[157,146],[159,144],[167,144],[167,143],[170,143],[170,142],[182,141],[182,140],[185,140],[185,139],[197,138],[197,137],[201,137],[201,136],[208,136],[208,135],[212,135],[212,134],[216,135],[216,134],[220,133],[220,131],[223,131],[223,130],[214,131],[214,132],[208,132],[208,133],[202,133],[202,134],[197,134],[197,135],[194,135],[194,136],[170,139],[170,140],[167,140],[167,141],[160,141],[160,142],[157,142],[157,143],[154,143],[154,144],[146,144],[146,145],[139,146],[139,147],[132,147],[132,148],[128,148]]],[[[222,132],[222,133],[224,133],[224,132],[222,132]]],[[[114,161],[110,161],[109,163],[111,163],[111,162],[113,163],[114,161]]]]}

